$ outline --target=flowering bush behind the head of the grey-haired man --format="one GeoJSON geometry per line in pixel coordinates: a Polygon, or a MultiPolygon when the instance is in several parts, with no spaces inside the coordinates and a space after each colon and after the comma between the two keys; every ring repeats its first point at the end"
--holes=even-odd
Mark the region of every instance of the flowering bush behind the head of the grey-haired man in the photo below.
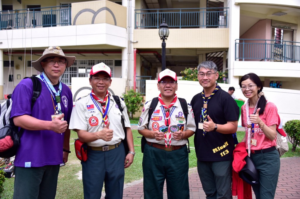
{"type": "MultiPolygon", "coordinates": [[[[219,77],[217,79],[218,83],[227,83],[228,78],[228,70],[226,71],[218,71],[219,77]],[[225,79],[225,80],[224,80],[225,79]],[[224,82],[225,81],[225,82],[224,82]]],[[[197,68],[185,68],[184,71],[181,71],[182,79],[181,80],[189,80],[189,81],[198,81],[197,68]]]]}

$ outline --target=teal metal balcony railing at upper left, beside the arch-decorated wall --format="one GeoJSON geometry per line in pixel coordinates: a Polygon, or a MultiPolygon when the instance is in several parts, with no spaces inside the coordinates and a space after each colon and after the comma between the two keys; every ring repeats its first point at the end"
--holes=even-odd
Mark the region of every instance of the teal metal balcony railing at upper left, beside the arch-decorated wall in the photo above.
{"type": "Polygon", "coordinates": [[[71,25],[71,6],[8,10],[0,12],[0,28],[53,27],[71,25]]]}

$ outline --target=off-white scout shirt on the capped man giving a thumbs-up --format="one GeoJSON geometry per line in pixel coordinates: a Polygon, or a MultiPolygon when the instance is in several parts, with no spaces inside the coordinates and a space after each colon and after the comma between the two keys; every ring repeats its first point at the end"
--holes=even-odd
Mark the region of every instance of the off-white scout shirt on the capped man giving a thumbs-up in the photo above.
{"type": "MultiPolygon", "coordinates": [[[[128,118],[125,102],[122,99],[120,99],[120,102],[121,107],[123,108],[122,113],[119,110],[119,107],[114,101],[113,97],[110,95],[110,106],[108,107],[107,117],[108,121],[110,122],[109,128],[113,130],[113,139],[108,142],[98,139],[93,142],[88,142],[88,146],[99,147],[105,145],[114,145],[121,142],[121,140],[124,140],[125,134],[122,128],[121,117],[124,118],[125,127],[130,128],[130,121],[128,118]]],[[[101,105],[99,103],[98,106],[99,108],[101,108],[101,105]]],[[[79,129],[88,132],[97,132],[99,131],[99,129],[103,129],[102,114],[99,112],[98,108],[91,100],[90,95],[82,97],[77,102],[75,102],[75,105],[72,109],[69,129],[79,129]]]]}

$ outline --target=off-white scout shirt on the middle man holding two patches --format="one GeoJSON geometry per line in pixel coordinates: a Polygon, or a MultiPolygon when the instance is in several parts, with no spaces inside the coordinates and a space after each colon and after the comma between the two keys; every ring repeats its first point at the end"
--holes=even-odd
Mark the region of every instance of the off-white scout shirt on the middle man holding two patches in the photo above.
{"type": "MultiPolygon", "coordinates": [[[[140,121],[138,124],[138,130],[143,130],[145,128],[151,130],[151,131],[160,131],[160,127],[165,125],[165,118],[164,118],[164,114],[162,111],[163,107],[161,105],[161,102],[158,101],[157,106],[155,108],[155,110],[152,113],[152,116],[149,120],[149,125],[148,125],[148,113],[149,113],[149,107],[150,107],[151,101],[147,102],[142,110],[142,114],[140,117],[140,121]],[[149,127],[149,128],[148,128],[149,127]]],[[[185,131],[185,130],[191,130],[191,131],[196,131],[196,124],[195,124],[195,120],[194,120],[194,113],[193,113],[193,109],[192,107],[187,104],[187,110],[188,110],[188,114],[187,114],[187,123],[186,123],[186,118],[184,117],[184,113],[182,111],[179,99],[177,99],[177,101],[175,102],[175,104],[172,106],[175,107],[174,111],[172,112],[171,116],[170,116],[170,125],[171,127],[173,125],[176,125],[181,131],[185,131]]],[[[163,108],[164,109],[164,108],[163,108]]],[[[170,108],[170,112],[171,112],[172,108],[170,108]]],[[[165,140],[155,140],[155,138],[147,138],[146,140],[148,142],[152,142],[152,143],[158,143],[158,144],[162,144],[165,145],[165,140]]],[[[169,140],[169,139],[168,139],[169,140]]],[[[184,140],[175,140],[173,138],[173,135],[171,137],[171,146],[179,146],[179,145],[184,145],[187,143],[187,139],[184,140]]]]}

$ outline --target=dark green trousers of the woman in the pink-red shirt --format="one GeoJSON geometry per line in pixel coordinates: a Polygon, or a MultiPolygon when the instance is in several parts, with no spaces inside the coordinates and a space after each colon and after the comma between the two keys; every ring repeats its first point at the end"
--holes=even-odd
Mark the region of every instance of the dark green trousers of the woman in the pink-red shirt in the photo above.
{"type": "Polygon", "coordinates": [[[250,154],[250,158],[253,160],[259,175],[259,184],[252,185],[255,198],[274,198],[280,170],[278,151],[250,154]]]}

